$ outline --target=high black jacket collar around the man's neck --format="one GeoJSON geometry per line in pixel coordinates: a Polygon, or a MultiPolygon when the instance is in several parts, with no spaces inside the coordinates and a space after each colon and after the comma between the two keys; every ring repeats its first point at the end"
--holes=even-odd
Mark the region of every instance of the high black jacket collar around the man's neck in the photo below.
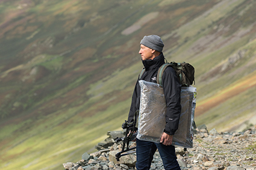
{"type": "Polygon", "coordinates": [[[163,53],[161,53],[154,59],[142,60],[142,63],[144,65],[146,71],[152,70],[154,68],[159,68],[161,65],[164,64],[164,55],[163,55],[163,53]]]}

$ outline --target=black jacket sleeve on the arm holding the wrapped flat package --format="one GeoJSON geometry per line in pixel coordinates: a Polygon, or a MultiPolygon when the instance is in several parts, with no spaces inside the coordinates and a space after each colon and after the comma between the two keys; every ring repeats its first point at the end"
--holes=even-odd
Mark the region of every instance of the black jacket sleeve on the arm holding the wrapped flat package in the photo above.
{"type": "Polygon", "coordinates": [[[163,90],[167,106],[164,132],[174,135],[178,129],[181,114],[181,84],[172,67],[167,67],[163,73],[163,90]]]}

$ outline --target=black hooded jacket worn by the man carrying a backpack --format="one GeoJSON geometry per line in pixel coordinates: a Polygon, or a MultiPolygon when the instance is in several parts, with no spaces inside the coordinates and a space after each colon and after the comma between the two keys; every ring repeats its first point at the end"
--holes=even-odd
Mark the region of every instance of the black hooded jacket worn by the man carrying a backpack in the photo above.
{"type": "MultiPolygon", "coordinates": [[[[161,53],[154,59],[147,59],[142,61],[145,67],[145,72],[140,79],[138,78],[134,88],[133,97],[131,101],[131,108],[128,115],[128,122],[134,121],[134,113],[140,108],[140,85],[139,80],[146,80],[148,82],[157,83],[158,68],[164,64],[164,56],[161,53]]],[[[166,98],[166,127],[164,132],[168,135],[174,135],[178,129],[178,123],[181,113],[180,94],[181,84],[178,82],[175,70],[172,67],[167,67],[162,76],[163,91],[166,98]]]]}

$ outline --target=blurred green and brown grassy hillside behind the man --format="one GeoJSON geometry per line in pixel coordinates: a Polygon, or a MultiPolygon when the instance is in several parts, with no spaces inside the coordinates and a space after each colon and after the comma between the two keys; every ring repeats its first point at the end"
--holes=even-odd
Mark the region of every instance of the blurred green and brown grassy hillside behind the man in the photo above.
{"type": "Polygon", "coordinates": [[[196,123],[255,124],[255,1],[0,1],[0,168],[61,169],[120,129],[157,34],[196,68],[196,123]]]}

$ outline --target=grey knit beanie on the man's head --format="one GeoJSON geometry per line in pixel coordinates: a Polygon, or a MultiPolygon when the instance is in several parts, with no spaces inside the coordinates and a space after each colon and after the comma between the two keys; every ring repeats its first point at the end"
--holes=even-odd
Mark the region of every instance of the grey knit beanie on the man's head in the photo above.
{"type": "Polygon", "coordinates": [[[153,50],[157,50],[158,52],[162,52],[164,47],[164,43],[158,35],[144,36],[140,41],[140,44],[143,44],[153,50]]]}

